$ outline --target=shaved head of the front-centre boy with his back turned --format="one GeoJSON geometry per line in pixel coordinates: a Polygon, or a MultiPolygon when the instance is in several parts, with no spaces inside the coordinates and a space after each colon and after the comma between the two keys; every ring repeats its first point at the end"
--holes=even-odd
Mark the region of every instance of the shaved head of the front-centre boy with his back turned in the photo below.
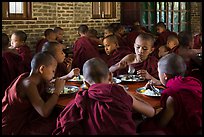
{"type": "Polygon", "coordinates": [[[87,82],[100,83],[107,78],[109,69],[107,64],[100,58],[87,60],[83,65],[83,76],[87,82]]]}

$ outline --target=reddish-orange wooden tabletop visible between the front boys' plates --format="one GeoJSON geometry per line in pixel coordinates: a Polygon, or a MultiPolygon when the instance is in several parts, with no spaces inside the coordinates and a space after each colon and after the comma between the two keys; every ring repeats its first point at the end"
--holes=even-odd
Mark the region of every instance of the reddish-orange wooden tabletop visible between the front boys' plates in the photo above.
{"type": "MultiPolygon", "coordinates": [[[[150,103],[154,108],[160,107],[160,97],[150,97],[146,95],[142,95],[140,93],[136,92],[137,88],[143,87],[147,81],[143,82],[122,82],[120,84],[128,86],[128,92],[130,92],[133,96],[137,96],[142,98],[143,100],[147,101],[150,103]]],[[[82,90],[81,85],[82,83],[77,83],[77,82],[66,82],[66,85],[72,85],[72,86],[77,86],[82,90]]],[[[71,95],[60,95],[58,102],[57,102],[57,107],[64,108],[71,100],[75,98],[76,94],[71,94],[71,95]]]]}

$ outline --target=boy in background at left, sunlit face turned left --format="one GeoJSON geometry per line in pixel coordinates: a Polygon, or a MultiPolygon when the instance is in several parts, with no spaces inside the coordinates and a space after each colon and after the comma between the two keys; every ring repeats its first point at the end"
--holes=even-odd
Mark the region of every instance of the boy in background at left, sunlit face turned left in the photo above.
{"type": "Polygon", "coordinates": [[[11,35],[11,49],[15,49],[16,52],[21,56],[22,63],[24,66],[23,72],[30,71],[30,62],[32,60],[32,52],[30,47],[26,45],[27,35],[24,31],[18,30],[11,35]]]}

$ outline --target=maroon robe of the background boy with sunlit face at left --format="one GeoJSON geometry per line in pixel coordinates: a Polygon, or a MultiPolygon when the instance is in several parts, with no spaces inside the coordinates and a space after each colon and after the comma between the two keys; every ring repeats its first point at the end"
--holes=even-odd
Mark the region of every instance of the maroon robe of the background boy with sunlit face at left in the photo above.
{"type": "Polygon", "coordinates": [[[33,58],[32,52],[30,50],[30,47],[28,47],[27,45],[22,45],[19,48],[16,49],[18,54],[21,56],[22,58],[22,62],[24,65],[24,72],[30,72],[31,70],[31,60],[33,58]]]}

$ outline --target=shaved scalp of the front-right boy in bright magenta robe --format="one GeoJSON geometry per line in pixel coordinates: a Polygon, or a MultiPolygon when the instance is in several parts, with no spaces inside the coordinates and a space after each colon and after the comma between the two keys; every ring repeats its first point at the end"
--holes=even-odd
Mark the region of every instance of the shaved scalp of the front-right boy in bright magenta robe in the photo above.
{"type": "Polygon", "coordinates": [[[175,53],[163,56],[158,62],[158,68],[161,73],[172,76],[184,76],[186,64],[183,58],[175,53]]]}

